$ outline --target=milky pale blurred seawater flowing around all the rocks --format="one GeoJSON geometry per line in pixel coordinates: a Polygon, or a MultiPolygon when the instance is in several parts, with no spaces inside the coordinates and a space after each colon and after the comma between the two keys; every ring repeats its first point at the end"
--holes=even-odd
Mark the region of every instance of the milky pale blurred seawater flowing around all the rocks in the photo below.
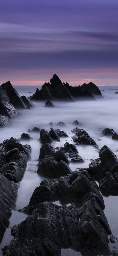
{"type": "MultiPolygon", "coordinates": [[[[36,87],[35,86],[16,86],[15,87],[20,96],[25,95],[26,97],[31,96],[36,87]],[[29,91],[31,93],[29,93],[29,91]]],[[[107,145],[118,157],[118,141],[112,140],[109,137],[100,135],[98,129],[104,129],[105,127],[113,128],[118,133],[118,87],[99,87],[102,91],[104,99],[88,100],[88,101],[76,101],[76,102],[54,102],[55,108],[45,108],[44,102],[34,102],[35,107],[31,110],[20,110],[20,115],[10,120],[10,125],[6,128],[0,129],[0,143],[5,139],[20,138],[21,134],[27,133],[28,129],[32,129],[35,126],[39,126],[41,129],[45,128],[49,131],[50,122],[54,123],[54,128],[60,128],[68,134],[68,138],[61,138],[60,142],[53,142],[54,147],[64,146],[65,142],[73,143],[73,136],[71,130],[75,128],[72,124],[73,121],[78,120],[82,126],[80,128],[85,129],[88,134],[96,141],[99,148],[103,145],[107,145]],[[116,90],[109,90],[114,88],[116,90]],[[59,127],[56,125],[57,122],[63,121],[66,125],[59,127]]],[[[19,224],[23,221],[27,215],[18,212],[19,209],[26,206],[34,189],[39,186],[41,181],[44,179],[40,177],[37,170],[37,163],[41,144],[39,142],[39,133],[29,133],[33,137],[32,141],[21,141],[22,144],[30,144],[32,148],[31,161],[27,163],[27,168],[22,181],[19,183],[18,197],[16,201],[16,209],[12,211],[10,217],[10,224],[8,229],[4,233],[3,240],[0,248],[8,245],[13,239],[11,236],[11,227],[19,224]]],[[[72,171],[76,168],[87,168],[88,164],[92,159],[98,158],[99,153],[92,146],[77,146],[79,155],[84,159],[84,163],[70,163],[69,166],[72,171]]],[[[115,196],[104,197],[105,203],[105,215],[108,219],[108,223],[111,227],[113,235],[117,237],[118,234],[118,199],[115,196]]],[[[59,204],[59,202],[55,202],[59,204]]],[[[116,245],[116,244],[115,244],[116,245]]],[[[112,246],[112,245],[111,245],[112,246]]],[[[2,252],[1,252],[2,254],[2,252]]],[[[0,254],[0,255],[1,255],[0,254]]],[[[71,249],[62,249],[62,256],[66,255],[81,255],[80,252],[74,252],[71,249]]]]}

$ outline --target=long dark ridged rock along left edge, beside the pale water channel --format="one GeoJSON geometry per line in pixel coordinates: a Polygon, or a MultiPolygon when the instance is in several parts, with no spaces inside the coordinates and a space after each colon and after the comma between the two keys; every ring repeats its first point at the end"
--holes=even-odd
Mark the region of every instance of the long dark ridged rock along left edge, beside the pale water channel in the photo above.
{"type": "Polygon", "coordinates": [[[0,242],[9,225],[12,209],[15,208],[16,183],[24,175],[30,154],[30,145],[23,146],[13,140],[5,140],[0,144],[0,242]]]}

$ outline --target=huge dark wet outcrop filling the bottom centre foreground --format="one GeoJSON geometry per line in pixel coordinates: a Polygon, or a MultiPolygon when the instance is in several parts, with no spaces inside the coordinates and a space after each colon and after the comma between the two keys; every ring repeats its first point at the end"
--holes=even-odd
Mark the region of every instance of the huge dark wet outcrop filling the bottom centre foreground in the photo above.
{"type": "Polygon", "coordinates": [[[3,255],[60,255],[62,248],[81,251],[85,256],[110,256],[111,234],[104,215],[104,202],[95,181],[85,170],[55,181],[42,181],[24,212],[30,214],[12,228],[15,237],[3,255]],[[63,207],[54,203],[60,200],[63,207]],[[48,202],[47,202],[48,201],[48,202]],[[66,207],[66,203],[72,205],[66,207]]]}

